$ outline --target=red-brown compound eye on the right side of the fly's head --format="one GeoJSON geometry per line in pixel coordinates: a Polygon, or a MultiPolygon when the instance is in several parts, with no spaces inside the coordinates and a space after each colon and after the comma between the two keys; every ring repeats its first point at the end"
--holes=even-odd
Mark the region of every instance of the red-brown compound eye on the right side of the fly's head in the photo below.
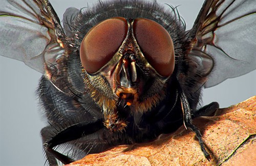
{"type": "Polygon", "coordinates": [[[169,33],[157,22],[136,18],[133,32],[148,63],[163,77],[172,75],[175,65],[174,44],[169,33]]]}

